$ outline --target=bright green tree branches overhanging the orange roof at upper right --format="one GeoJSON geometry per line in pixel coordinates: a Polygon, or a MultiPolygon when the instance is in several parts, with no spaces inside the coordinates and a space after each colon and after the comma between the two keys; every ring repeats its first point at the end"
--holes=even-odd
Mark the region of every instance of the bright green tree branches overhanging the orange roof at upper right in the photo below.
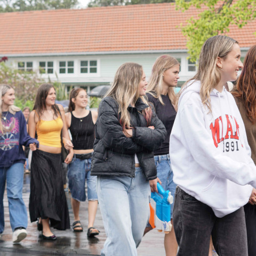
{"type": "MultiPolygon", "coordinates": [[[[188,10],[191,6],[206,9],[197,18],[190,18],[187,25],[181,25],[182,33],[187,37],[187,48],[191,61],[196,61],[203,43],[207,38],[215,35],[225,35],[229,25],[235,24],[239,28],[247,21],[256,17],[255,0],[176,0],[177,9],[188,10]]],[[[198,10],[199,12],[199,10],[198,10]]],[[[255,29],[256,30],[256,29],[255,29]]]]}

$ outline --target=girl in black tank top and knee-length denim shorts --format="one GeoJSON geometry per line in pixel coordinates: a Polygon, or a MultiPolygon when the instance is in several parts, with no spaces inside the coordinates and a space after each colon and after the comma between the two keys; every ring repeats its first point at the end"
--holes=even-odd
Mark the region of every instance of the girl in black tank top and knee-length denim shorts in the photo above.
{"type": "Polygon", "coordinates": [[[79,206],[85,201],[85,180],[88,197],[88,230],[87,236],[99,235],[93,227],[98,207],[96,191],[97,178],[91,176],[91,158],[95,139],[95,123],[98,113],[86,109],[87,93],[82,88],[71,90],[66,121],[74,145],[74,157],[68,165],[68,184],[71,191],[71,205],[74,213],[73,230],[83,231],[79,218],[79,206]]]}

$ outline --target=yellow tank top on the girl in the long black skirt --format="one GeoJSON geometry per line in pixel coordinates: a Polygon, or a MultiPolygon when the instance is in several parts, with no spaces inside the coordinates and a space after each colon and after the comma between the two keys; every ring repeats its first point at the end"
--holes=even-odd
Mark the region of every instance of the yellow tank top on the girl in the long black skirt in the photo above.
{"type": "Polygon", "coordinates": [[[40,120],[36,125],[37,140],[41,145],[61,148],[60,133],[63,122],[59,116],[55,120],[40,120]]]}

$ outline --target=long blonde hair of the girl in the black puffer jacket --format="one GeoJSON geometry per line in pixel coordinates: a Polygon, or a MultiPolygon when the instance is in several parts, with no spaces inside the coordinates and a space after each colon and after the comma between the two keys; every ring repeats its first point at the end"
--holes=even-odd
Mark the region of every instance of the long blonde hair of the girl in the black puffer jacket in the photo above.
{"type": "MultiPolygon", "coordinates": [[[[128,107],[135,104],[139,98],[143,103],[148,104],[145,97],[141,97],[139,93],[139,83],[143,74],[142,66],[137,63],[127,62],[120,66],[115,74],[114,82],[105,97],[112,97],[118,103],[118,113],[121,113],[120,123],[126,134],[126,129],[130,129],[130,113],[128,107]]],[[[146,118],[148,125],[152,116],[150,107],[142,110],[143,116],[146,118]]]]}

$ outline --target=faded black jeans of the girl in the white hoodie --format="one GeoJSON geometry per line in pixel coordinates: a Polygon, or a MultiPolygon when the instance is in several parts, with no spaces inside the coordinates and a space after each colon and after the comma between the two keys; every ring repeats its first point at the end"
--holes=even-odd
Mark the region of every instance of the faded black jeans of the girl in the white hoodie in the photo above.
{"type": "Polygon", "coordinates": [[[218,218],[211,207],[177,187],[173,227],[179,244],[177,256],[208,255],[211,235],[219,256],[248,255],[243,207],[218,218]]]}

